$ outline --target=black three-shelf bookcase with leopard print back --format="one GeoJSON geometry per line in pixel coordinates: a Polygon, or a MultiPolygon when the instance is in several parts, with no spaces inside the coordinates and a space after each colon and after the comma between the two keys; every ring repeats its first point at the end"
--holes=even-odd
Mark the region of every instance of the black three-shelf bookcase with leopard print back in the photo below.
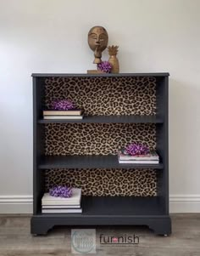
{"type": "MultiPolygon", "coordinates": [[[[32,77],[33,216],[31,218],[31,234],[46,234],[47,230],[50,230],[55,225],[147,225],[158,235],[169,235],[171,233],[168,154],[169,73],[131,73],[117,75],[32,74],[32,77]],[[119,94],[118,92],[115,93],[115,84],[119,94]],[[73,89],[73,86],[75,86],[75,89],[73,89]],[[94,87],[92,88],[92,86],[94,87]],[[84,91],[84,88],[86,88],[86,92],[84,92],[85,98],[79,98],[79,95],[81,95],[81,91],[79,91],[80,87],[81,91],[84,91]],[[120,87],[122,88],[121,91],[120,87]],[[151,89],[149,90],[148,87],[151,89]],[[105,94],[109,94],[109,88],[113,92],[113,94],[110,94],[110,100],[115,100],[118,108],[122,107],[122,115],[120,115],[120,111],[114,112],[117,108],[116,105],[112,105],[112,102],[110,104],[108,103],[109,95],[106,98],[105,94]],[[97,94],[90,94],[90,90],[94,89],[97,90],[97,94]],[[105,94],[102,93],[103,89],[105,89],[105,94]],[[126,91],[128,91],[128,94],[125,93],[126,91]],[[102,99],[98,99],[98,95],[100,94],[102,95],[102,99]],[[123,96],[123,94],[125,95],[123,96]],[[122,99],[120,105],[118,105],[118,100],[114,99],[118,95],[122,99]],[[43,120],[42,111],[49,106],[48,104],[51,100],[58,98],[65,99],[67,97],[73,98],[72,100],[74,101],[77,100],[79,107],[86,108],[85,117],[82,120],[43,120]],[[88,97],[87,100],[86,97],[88,97]],[[94,97],[94,99],[92,98],[93,100],[90,100],[89,97],[94,97]],[[126,97],[129,98],[128,101],[125,99],[126,97]],[[147,98],[147,100],[142,99],[142,97],[147,98]],[[99,100],[99,104],[103,105],[104,112],[97,108],[95,100],[99,100]],[[133,101],[133,105],[131,105],[131,100],[133,101]],[[89,104],[89,106],[84,104],[89,104]],[[127,113],[125,113],[126,104],[128,106],[127,109],[129,109],[127,113]],[[107,106],[110,114],[107,111],[107,106]],[[96,108],[97,111],[91,113],[92,108],[94,110],[96,108]],[[136,111],[134,111],[134,108],[136,108],[136,111]],[[90,148],[87,155],[85,153],[77,154],[73,145],[70,145],[73,149],[72,154],[70,154],[65,149],[67,143],[56,146],[57,144],[54,140],[51,141],[51,139],[47,138],[48,134],[51,133],[51,128],[55,130],[60,128],[60,134],[62,131],[66,133],[66,130],[69,131],[70,128],[77,128],[79,126],[81,126],[81,130],[86,129],[86,133],[88,129],[88,133],[91,133],[91,129],[95,131],[98,128],[100,130],[103,126],[106,129],[106,134],[108,134],[108,131],[112,133],[112,129],[115,126],[123,130],[117,134],[123,134],[126,129],[130,130],[132,127],[136,141],[143,142],[145,142],[145,138],[147,138],[147,133],[149,132],[153,140],[153,143],[151,142],[152,140],[149,143],[152,143],[153,147],[158,151],[160,163],[153,165],[119,164],[114,145],[110,150],[110,154],[108,152],[104,153],[104,150],[100,154],[97,151],[96,154],[90,148]],[[136,135],[137,131],[138,137],[136,135]],[[60,151],[58,151],[58,148],[60,151]],[[104,175],[106,175],[105,172],[109,172],[109,169],[113,170],[113,175],[114,171],[117,172],[118,169],[123,169],[122,174],[126,174],[127,170],[129,175],[131,175],[131,172],[135,175],[134,172],[136,170],[135,178],[133,177],[131,179],[141,180],[140,172],[144,172],[144,175],[147,173],[148,177],[150,177],[149,182],[151,182],[151,172],[153,172],[153,175],[156,176],[156,183],[152,185],[153,192],[150,193],[148,189],[151,191],[152,189],[148,187],[148,181],[145,179],[146,181],[141,195],[140,183],[134,185],[134,190],[139,191],[135,195],[135,192],[132,193],[131,189],[126,188],[125,183],[122,186],[122,191],[125,190],[125,193],[122,193],[122,195],[119,193],[118,195],[111,194],[109,196],[107,189],[107,191],[105,190],[106,192],[103,192],[103,195],[97,196],[96,194],[101,192],[98,191],[101,188],[97,187],[96,189],[93,187],[93,191],[95,193],[97,192],[94,195],[91,194],[90,188],[87,188],[81,200],[82,213],[42,213],[42,195],[49,188],[47,186],[47,180],[52,180],[52,177],[49,175],[56,176],[57,172],[63,172],[62,174],[64,175],[68,170],[69,174],[73,176],[79,170],[82,170],[82,174],[86,170],[88,174],[90,170],[95,173],[96,169],[98,172],[99,169],[103,169],[104,175]],[[53,174],[49,174],[49,170],[54,170],[53,174]]],[[[116,136],[116,133],[113,132],[112,136],[116,136]]],[[[59,139],[58,136],[55,136],[54,139],[56,138],[59,139]]],[[[79,139],[75,143],[78,143],[78,141],[79,139]]],[[[120,138],[116,137],[112,141],[117,144],[120,138]]],[[[131,143],[132,141],[128,141],[127,139],[124,142],[131,143]]],[[[69,143],[73,144],[72,142],[69,143]]],[[[95,143],[94,140],[92,140],[92,143],[95,143]]],[[[104,142],[100,141],[98,143],[103,147],[104,142]]],[[[119,145],[121,146],[121,142],[119,142],[119,145]]],[[[116,186],[114,190],[118,191],[116,186]]]]}

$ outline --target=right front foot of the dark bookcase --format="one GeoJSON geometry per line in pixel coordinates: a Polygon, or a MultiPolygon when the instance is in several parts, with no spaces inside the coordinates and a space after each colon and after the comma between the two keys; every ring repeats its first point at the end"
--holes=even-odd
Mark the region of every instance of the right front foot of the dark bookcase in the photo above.
{"type": "Polygon", "coordinates": [[[156,235],[169,236],[171,234],[171,219],[155,219],[150,225],[148,225],[156,235]]]}

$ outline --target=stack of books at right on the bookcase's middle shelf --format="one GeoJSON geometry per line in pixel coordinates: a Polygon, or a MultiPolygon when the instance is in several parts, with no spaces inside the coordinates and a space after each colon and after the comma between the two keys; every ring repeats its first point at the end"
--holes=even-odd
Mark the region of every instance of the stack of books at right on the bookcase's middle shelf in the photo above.
{"type": "Polygon", "coordinates": [[[131,156],[125,150],[119,151],[119,163],[136,163],[136,164],[157,164],[159,163],[159,156],[156,151],[150,151],[146,155],[131,156]]]}

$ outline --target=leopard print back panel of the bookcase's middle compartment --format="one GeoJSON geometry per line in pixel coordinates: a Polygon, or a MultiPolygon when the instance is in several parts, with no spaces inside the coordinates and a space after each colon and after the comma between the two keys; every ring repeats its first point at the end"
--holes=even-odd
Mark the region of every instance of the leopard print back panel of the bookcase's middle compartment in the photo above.
{"type": "Polygon", "coordinates": [[[116,155],[131,142],[156,148],[156,126],[150,123],[48,123],[46,155],[116,155]]]}

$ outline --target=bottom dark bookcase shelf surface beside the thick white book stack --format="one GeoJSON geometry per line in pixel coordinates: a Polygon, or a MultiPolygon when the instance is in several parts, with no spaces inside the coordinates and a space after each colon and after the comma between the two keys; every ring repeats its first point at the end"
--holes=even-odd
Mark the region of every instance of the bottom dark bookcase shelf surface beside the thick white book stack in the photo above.
{"type": "MultiPolygon", "coordinates": [[[[163,215],[164,208],[158,197],[127,197],[127,196],[82,196],[81,206],[83,213],[70,214],[70,216],[156,216],[163,215]],[[119,208],[119,205],[121,206],[119,208]],[[135,207],[136,206],[136,207],[135,207]]],[[[41,215],[44,215],[41,213],[41,215]]],[[[47,214],[48,215],[48,214],[47,214]]],[[[46,215],[46,216],[47,216],[46,215]]],[[[51,216],[60,216],[61,214],[52,213],[51,216]]],[[[66,214],[62,214],[66,217],[66,214]]]]}

